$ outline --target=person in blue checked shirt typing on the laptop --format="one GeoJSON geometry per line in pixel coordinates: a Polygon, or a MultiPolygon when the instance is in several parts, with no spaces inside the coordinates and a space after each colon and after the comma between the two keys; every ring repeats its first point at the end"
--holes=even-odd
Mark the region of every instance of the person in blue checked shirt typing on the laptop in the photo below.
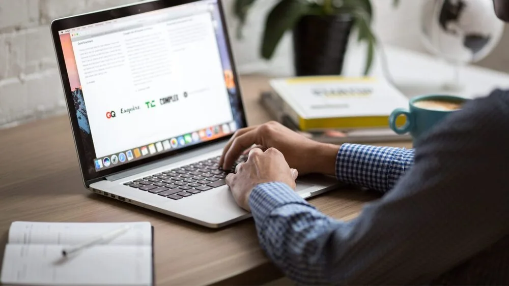
{"type": "MultiPolygon", "coordinates": [[[[509,1],[494,0],[509,21],[509,1]]],[[[309,140],[276,122],[241,129],[220,166],[262,249],[302,284],[509,284],[509,91],[469,101],[415,149],[309,140]],[[255,146],[255,147],[252,147],[255,146]],[[355,219],[295,192],[322,173],[378,190],[355,219]]]]}

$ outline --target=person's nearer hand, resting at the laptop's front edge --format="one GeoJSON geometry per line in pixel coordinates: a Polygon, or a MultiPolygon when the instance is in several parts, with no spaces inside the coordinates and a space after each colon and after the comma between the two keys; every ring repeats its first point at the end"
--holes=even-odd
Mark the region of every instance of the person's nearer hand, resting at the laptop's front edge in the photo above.
{"type": "Polygon", "coordinates": [[[264,152],[260,148],[253,148],[249,151],[247,161],[237,165],[235,174],[228,174],[226,182],[237,204],[249,211],[249,195],[254,187],[261,183],[281,182],[295,189],[297,175],[297,170],[290,169],[278,150],[269,148],[264,152]]]}

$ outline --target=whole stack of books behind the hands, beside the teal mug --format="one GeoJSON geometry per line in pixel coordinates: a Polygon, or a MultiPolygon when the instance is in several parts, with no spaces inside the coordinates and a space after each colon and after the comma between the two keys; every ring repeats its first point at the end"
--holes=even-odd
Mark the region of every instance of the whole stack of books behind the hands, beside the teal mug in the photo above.
{"type": "MultiPolygon", "coordinates": [[[[277,121],[306,137],[327,143],[409,140],[389,129],[389,115],[408,99],[384,79],[341,76],[278,78],[261,94],[277,121]]],[[[405,118],[398,118],[398,125],[405,118]]]]}

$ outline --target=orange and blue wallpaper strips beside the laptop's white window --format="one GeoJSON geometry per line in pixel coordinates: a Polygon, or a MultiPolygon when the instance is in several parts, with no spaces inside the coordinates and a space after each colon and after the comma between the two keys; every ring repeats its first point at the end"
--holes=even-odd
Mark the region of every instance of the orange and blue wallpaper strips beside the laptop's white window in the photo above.
{"type": "MultiPolygon", "coordinates": [[[[223,27],[224,23],[220,17],[219,6],[214,5],[214,10],[212,11],[214,19],[217,21],[217,27],[223,27]]],[[[232,63],[230,62],[228,45],[226,35],[222,28],[216,29],[216,38],[219,48],[219,53],[221,57],[223,72],[224,72],[224,80],[227,85],[228,94],[230,98],[230,104],[232,106],[232,114],[237,126],[241,126],[243,118],[242,112],[240,109],[241,99],[237,94],[237,86],[234,81],[234,73],[232,70],[232,63]]],[[[64,60],[67,70],[67,75],[69,78],[69,85],[71,88],[71,93],[74,101],[74,107],[76,110],[75,116],[77,118],[79,133],[84,149],[84,156],[87,165],[87,173],[94,174],[94,159],[96,157],[94,144],[92,140],[92,134],[90,130],[89,118],[87,115],[87,107],[83,98],[83,92],[81,89],[81,83],[79,80],[78,69],[76,67],[76,60],[74,57],[74,50],[71,42],[70,34],[60,35],[60,42],[62,44],[62,51],[64,54],[64,60]]],[[[212,140],[214,138],[210,138],[212,140]]]]}

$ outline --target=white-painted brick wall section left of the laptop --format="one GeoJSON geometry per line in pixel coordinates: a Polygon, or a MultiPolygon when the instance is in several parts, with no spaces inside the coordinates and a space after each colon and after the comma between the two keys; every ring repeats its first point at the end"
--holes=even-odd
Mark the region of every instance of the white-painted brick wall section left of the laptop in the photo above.
{"type": "Polygon", "coordinates": [[[0,0],[0,128],[65,111],[49,23],[137,0],[0,0]]]}

